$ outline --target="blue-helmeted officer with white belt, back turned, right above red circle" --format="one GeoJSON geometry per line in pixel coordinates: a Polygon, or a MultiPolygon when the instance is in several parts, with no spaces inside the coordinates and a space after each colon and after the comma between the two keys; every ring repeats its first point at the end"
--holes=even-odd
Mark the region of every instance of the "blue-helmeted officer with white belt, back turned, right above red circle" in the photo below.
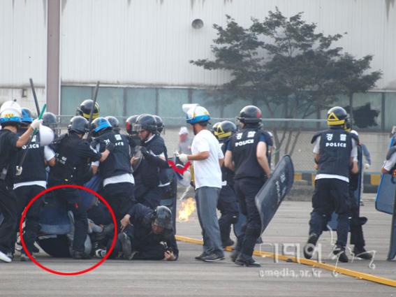
{"type": "Polygon", "coordinates": [[[97,152],[105,151],[110,143],[114,146],[109,157],[100,164],[94,162],[92,169],[103,178],[103,196],[110,203],[119,222],[135,203],[131,148],[127,137],[112,131],[110,122],[104,117],[94,119],[91,134],[95,138],[91,146],[97,152]]]}

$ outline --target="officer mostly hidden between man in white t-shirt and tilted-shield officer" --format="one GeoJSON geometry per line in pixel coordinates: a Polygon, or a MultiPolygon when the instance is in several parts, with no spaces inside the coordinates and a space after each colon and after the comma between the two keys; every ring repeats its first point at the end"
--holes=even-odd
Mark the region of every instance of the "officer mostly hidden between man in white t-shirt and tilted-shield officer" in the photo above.
{"type": "MultiPolygon", "coordinates": [[[[228,142],[236,131],[237,126],[230,121],[223,121],[213,125],[214,136],[219,140],[223,154],[226,154],[228,142]]],[[[239,208],[234,190],[234,172],[230,171],[226,166],[221,166],[221,179],[223,184],[217,208],[221,212],[221,217],[219,218],[221,242],[223,247],[227,247],[234,244],[233,240],[230,239],[230,231],[231,225],[238,220],[239,208]]]]}

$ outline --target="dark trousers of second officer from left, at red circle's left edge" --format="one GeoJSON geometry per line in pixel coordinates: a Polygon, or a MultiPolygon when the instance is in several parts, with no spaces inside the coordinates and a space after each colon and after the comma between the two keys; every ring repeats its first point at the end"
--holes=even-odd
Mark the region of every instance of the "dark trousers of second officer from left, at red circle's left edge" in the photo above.
{"type": "MultiPolygon", "coordinates": [[[[44,190],[45,190],[44,187],[34,186],[34,185],[17,187],[14,190],[15,196],[17,197],[17,215],[18,215],[17,228],[15,229],[15,236],[14,236],[15,239],[16,239],[16,234],[19,231],[20,219],[22,218],[22,212],[24,211],[24,208],[27,207],[27,205],[29,204],[32,198],[34,198],[36,195],[40,194],[41,191],[44,190]]],[[[29,210],[27,210],[27,214],[25,217],[23,239],[29,252],[31,252],[31,249],[33,249],[34,242],[36,241],[37,233],[38,231],[40,231],[39,215],[41,208],[43,206],[43,198],[44,197],[41,196],[36,201],[34,201],[34,203],[31,205],[29,210]]]]}

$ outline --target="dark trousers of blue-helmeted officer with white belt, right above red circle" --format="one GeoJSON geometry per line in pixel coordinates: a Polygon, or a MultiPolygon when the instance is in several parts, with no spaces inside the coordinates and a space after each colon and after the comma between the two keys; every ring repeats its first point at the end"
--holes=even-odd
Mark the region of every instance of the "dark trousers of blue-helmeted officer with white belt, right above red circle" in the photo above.
{"type": "Polygon", "coordinates": [[[136,203],[133,191],[131,182],[107,184],[103,189],[103,198],[108,201],[114,211],[117,224],[136,203]]]}

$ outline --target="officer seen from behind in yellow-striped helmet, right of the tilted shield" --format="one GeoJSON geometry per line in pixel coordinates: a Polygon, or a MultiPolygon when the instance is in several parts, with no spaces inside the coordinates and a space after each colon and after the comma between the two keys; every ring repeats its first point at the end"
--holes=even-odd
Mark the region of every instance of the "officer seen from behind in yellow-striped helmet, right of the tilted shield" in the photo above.
{"type": "Polygon", "coordinates": [[[333,211],[337,217],[337,242],[333,253],[339,261],[348,262],[345,253],[349,231],[349,175],[352,170],[357,173],[357,166],[353,166],[353,159],[358,157],[356,143],[358,138],[353,133],[344,130],[348,115],[344,108],[336,106],[328,110],[328,130],[315,134],[314,161],[318,164],[315,178],[315,190],[312,196],[312,212],[309,220],[309,238],[304,247],[304,256],[310,259],[314,246],[321,236],[325,224],[333,211]]]}

